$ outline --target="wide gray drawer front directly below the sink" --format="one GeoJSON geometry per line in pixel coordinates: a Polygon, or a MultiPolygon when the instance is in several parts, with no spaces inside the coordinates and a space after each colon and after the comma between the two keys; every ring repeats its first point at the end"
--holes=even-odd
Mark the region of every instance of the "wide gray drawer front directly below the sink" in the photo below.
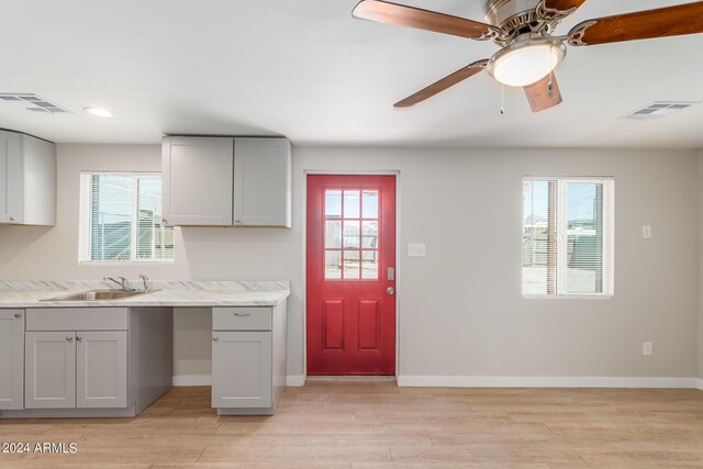
{"type": "Polygon", "coordinates": [[[126,308],[43,308],[26,310],[27,331],[126,331],[126,308]]]}

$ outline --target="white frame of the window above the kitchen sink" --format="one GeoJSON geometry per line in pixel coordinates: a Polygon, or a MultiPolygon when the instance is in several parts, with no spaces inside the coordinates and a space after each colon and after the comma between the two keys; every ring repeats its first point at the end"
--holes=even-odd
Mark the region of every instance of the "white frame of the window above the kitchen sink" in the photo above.
{"type": "MultiPolygon", "coordinates": [[[[91,246],[91,236],[88,236],[88,239],[85,239],[83,236],[90,233],[90,210],[92,206],[92,192],[88,194],[88,200],[85,201],[82,199],[82,176],[131,176],[131,177],[140,177],[140,176],[158,176],[161,177],[161,172],[158,171],[80,171],[80,183],[78,188],[78,264],[79,265],[90,265],[90,266],[134,266],[134,265],[154,265],[154,264],[174,264],[176,261],[176,245],[175,237],[176,233],[174,232],[174,258],[172,259],[136,259],[136,243],[130,244],[130,260],[90,260],[90,252],[92,250],[91,246]]],[[[132,186],[132,199],[137,199],[137,185],[132,186]]],[[[164,192],[164,179],[161,178],[161,197],[164,192]]],[[[136,204],[131,206],[132,213],[130,217],[132,221],[135,221],[137,217],[137,208],[136,204]]],[[[131,226],[132,233],[131,238],[137,238],[137,224],[132,223],[131,226]]]]}

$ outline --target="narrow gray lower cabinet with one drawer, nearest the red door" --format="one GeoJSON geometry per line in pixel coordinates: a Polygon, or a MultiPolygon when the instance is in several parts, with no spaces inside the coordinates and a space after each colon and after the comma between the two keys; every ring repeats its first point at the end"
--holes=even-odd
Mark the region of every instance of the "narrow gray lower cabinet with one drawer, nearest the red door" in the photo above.
{"type": "Polygon", "coordinates": [[[286,389],[286,303],[213,308],[212,406],[219,414],[276,412],[286,389]]]}

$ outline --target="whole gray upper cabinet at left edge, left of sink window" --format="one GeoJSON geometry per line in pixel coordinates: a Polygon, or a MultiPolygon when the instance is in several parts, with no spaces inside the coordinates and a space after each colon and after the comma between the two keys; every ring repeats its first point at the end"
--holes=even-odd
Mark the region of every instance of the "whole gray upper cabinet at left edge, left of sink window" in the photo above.
{"type": "Polygon", "coordinates": [[[56,224],[53,143],[0,131],[0,224],[56,224]]]}

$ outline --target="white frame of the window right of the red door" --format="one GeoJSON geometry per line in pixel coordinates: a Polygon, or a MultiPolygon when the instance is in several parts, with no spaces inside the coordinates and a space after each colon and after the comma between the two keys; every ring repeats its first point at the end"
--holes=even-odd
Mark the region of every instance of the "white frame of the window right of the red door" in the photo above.
{"type": "MultiPolygon", "coordinates": [[[[523,291],[524,268],[521,260],[520,289],[524,299],[547,300],[611,300],[615,297],[615,178],[612,176],[523,176],[525,180],[556,180],[557,181],[557,293],[533,294],[523,291]],[[603,292],[602,293],[560,293],[567,290],[567,276],[559,271],[567,269],[568,249],[568,220],[566,210],[568,206],[568,190],[563,182],[602,183],[603,185],[603,292]],[[562,201],[562,202],[561,202],[562,201]]],[[[524,190],[521,191],[521,199],[524,190]]],[[[521,244],[525,231],[524,202],[521,204],[521,244]]],[[[522,249],[521,249],[522,259],[522,249]]]]}

